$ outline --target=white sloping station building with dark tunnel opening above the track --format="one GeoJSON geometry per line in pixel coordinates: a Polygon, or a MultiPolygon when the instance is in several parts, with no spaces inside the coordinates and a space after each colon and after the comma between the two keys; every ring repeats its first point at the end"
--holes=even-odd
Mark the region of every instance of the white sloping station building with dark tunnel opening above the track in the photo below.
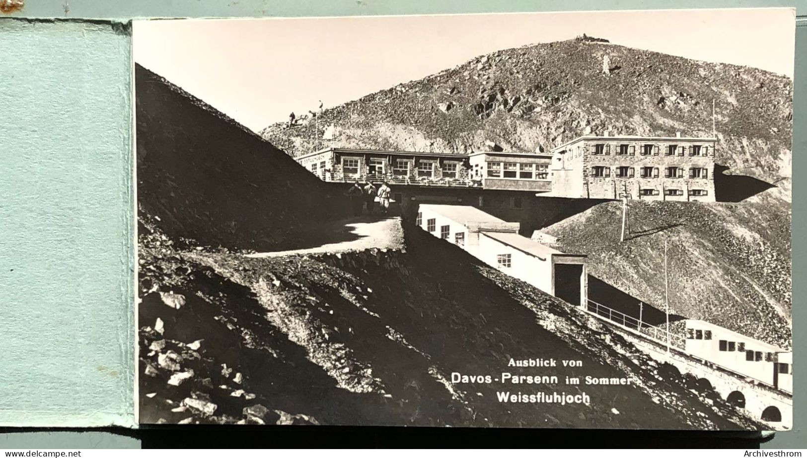
{"type": "Polygon", "coordinates": [[[421,204],[416,225],[541,291],[574,305],[586,303],[586,256],[523,237],[518,223],[466,205],[421,204]]]}

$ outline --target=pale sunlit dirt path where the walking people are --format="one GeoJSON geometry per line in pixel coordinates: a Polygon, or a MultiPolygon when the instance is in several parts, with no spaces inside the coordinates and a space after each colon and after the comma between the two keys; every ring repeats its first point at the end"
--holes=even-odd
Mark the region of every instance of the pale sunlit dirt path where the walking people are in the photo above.
{"type": "Polygon", "coordinates": [[[353,217],[336,221],[318,231],[319,237],[332,235],[333,243],[324,243],[300,250],[272,251],[247,254],[249,258],[272,258],[290,254],[343,253],[370,248],[399,250],[403,248],[403,229],[400,217],[353,217]],[[343,239],[348,240],[343,240],[343,239]],[[341,240],[341,241],[338,241],[341,240]]]}

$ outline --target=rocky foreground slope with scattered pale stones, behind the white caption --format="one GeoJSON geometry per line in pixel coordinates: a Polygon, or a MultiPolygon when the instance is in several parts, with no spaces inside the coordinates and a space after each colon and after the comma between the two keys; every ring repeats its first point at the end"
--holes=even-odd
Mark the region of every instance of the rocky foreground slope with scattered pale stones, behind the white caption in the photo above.
{"type": "Polygon", "coordinates": [[[420,229],[407,229],[406,253],[252,259],[176,250],[153,222],[140,233],[144,423],[759,427],[599,321],[420,229]],[[462,383],[453,372],[632,382],[462,383]],[[591,402],[497,399],[554,390],[591,402]]]}

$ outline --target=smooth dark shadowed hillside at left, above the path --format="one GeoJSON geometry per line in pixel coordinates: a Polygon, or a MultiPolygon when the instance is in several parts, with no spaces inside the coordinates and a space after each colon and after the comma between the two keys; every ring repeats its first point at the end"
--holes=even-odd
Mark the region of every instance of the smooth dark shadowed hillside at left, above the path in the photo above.
{"type": "Polygon", "coordinates": [[[282,250],[346,208],[294,159],[139,65],[136,122],[140,212],[175,241],[282,250]]]}

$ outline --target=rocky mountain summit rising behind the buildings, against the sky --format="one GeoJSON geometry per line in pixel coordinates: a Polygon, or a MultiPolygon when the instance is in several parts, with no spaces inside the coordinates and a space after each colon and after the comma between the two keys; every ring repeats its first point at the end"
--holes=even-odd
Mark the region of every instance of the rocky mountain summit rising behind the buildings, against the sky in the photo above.
{"type": "Polygon", "coordinates": [[[713,101],[717,162],[789,192],[792,80],[586,39],[479,56],[261,135],[291,155],[316,138],[320,147],[549,151],[605,131],[711,136],[713,101]]]}

